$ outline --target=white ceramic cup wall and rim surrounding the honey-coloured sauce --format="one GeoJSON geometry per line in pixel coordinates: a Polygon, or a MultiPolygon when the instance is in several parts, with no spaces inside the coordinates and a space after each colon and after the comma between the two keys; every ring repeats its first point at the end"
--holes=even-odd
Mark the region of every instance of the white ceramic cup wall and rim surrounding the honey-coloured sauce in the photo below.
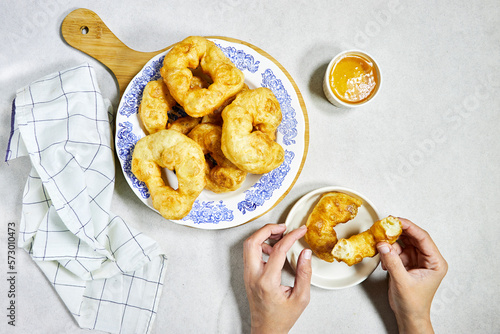
{"type": "Polygon", "coordinates": [[[333,59],[330,61],[330,63],[328,64],[328,67],[326,69],[326,72],[325,72],[325,76],[323,78],[323,91],[325,93],[325,96],[326,98],[328,99],[328,101],[333,104],[334,106],[336,107],[339,107],[339,108],[357,108],[357,107],[361,107],[361,106],[364,106],[365,104],[367,104],[368,102],[370,102],[371,100],[373,100],[373,98],[377,95],[377,93],[380,91],[380,87],[382,85],[382,72],[380,70],[380,67],[378,65],[378,63],[375,61],[375,59],[370,56],[369,54],[367,54],[366,52],[364,51],[360,51],[360,50],[348,50],[348,51],[342,51],[340,52],[339,54],[337,54],[335,57],[333,57],[333,59]],[[353,102],[353,103],[349,103],[349,102],[345,102],[345,101],[342,101],[340,100],[332,91],[332,88],[330,86],[330,74],[331,74],[331,71],[332,71],[332,67],[336,64],[336,62],[346,56],[346,55],[359,55],[361,57],[364,57],[366,59],[368,59],[369,61],[372,62],[373,64],[373,68],[377,74],[377,84],[374,88],[374,91],[373,93],[371,93],[371,95],[361,101],[361,102],[353,102]]]}

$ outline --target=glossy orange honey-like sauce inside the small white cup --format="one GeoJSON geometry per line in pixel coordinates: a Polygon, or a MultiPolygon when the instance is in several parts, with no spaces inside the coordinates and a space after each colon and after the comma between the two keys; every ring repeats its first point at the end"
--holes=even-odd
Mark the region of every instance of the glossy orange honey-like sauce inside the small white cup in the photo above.
{"type": "Polygon", "coordinates": [[[377,71],[371,60],[347,54],[337,60],[330,72],[330,87],[337,98],[346,103],[368,99],[378,84],[377,71]]]}

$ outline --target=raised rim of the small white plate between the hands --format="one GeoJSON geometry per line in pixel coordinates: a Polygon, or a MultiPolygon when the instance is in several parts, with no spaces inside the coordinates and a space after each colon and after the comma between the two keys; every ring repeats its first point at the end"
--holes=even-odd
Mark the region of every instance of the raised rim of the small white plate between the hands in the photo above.
{"type": "MultiPolygon", "coordinates": [[[[348,192],[348,193],[352,193],[352,194],[356,195],[357,197],[361,198],[364,202],[366,202],[366,203],[369,204],[369,206],[375,212],[375,215],[377,216],[377,219],[381,219],[380,211],[377,210],[377,208],[375,207],[375,205],[373,204],[372,201],[370,201],[366,196],[364,196],[360,192],[358,192],[356,190],[353,190],[351,188],[344,187],[344,186],[325,186],[325,187],[321,187],[321,188],[317,188],[317,189],[309,191],[308,193],[304,194],[302,197],[300,197],[295,202],[295,204],[292,206],[292,208],[288,212],[286,220],[285,220],[285,225],[286,225],[285,234],[288,233],[288,232],[290,232],[289,226],[290,226],[290,222],[291,222],[291,220],[293,218],[293,213],[296,210],[299,209],[299,207],[301,206],[301,204],[303,202],[307,201],[308,199],[310,199],[313,196],[320,195],[320,194],[323,194],[323,193],[326,193],[326,192],[332,192],[332,191],[348,192]]],[[[292,267],[292,269],[295,271],[296,270],[296,263],[295,263],[295,261],[293,261],[293,253],[294,252],[293,252],[292,248],[290,248],[287,251],[287,253],[286,253],[286,258],[287,258],[288,263],[292,267]]],[[[326,285],[323,285],[323,284],[319,284],[317,282],[314,282],[314,271],[313,271],[312,276],[311,276],[311,285],[314,285],[314,286],[316,286],[318,288],[322,288],[322,289],[325,289],[325,290],[340,290],[340,289],[346,289],[346,288],[350,288],[350,287],[356,286],[356,285],[362,283],[363,281],[365,281],[375,271],[375,269],[377,269],[377,267],[378,267],[378,265],[380,263],[380,256],[379,256],[379,254],[376,254],[371,259],[374,260],[373,261],[374,264],[372,265],[373,268],[370,270],[370,272],[366,276],[363,276],[360,279],[354,280],[350,284],[338,285],[338,286],[326,286],[326,285]]]]}

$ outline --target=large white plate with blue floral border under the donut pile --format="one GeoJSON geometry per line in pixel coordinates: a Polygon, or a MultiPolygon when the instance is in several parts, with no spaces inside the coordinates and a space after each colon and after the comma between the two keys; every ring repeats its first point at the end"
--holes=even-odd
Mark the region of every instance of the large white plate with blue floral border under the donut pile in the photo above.
{"type": "MultiPolygon", "coordinates": [[[[300,92],[291,77],[269,55],[248,43],[233,39],[210,38],[245,74],[250,88],[268,87],[276,95],[283,114],[277,142],[285,150],[285,161],[275,170],[263,174],[248,174],[240,189],[216,194],[203,190],[189,215],[175,223],[202,229],[223,229],[241,225],[273,208],[290,191],[300,174],[308,145],[307,112],[300,92]]],[[[159,79],[163,58],[158,54],[132,79],[123,93],[116,117],[116,151],[127,182],[151,209],[151,196],[145,184],[131,171],[135,143],[146,133],[137,114],[142,91],[151,80],[159,79]]],[[[173,116],[176,117],[175,115],[173,116]]],[[[171,186],[177,186],[172,171],[165,170],[171,186]]],[[[156,211],[156,210],[155,210],[156,211]]]]}

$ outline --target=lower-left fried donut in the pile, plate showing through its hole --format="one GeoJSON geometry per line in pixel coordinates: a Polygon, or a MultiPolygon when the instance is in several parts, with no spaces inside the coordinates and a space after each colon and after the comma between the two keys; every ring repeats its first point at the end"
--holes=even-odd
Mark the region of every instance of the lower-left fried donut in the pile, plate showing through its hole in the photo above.
{"type": "Polygon", "coordinates": [[[132,173],[146,183],[153,207],[166,219],[181,219],[205,187],[206,163],[200,146],[175,130],[141,138],[132,154],[132,173]],[[161,168],[175,170],[178,188],[165,185],[161,168]]]}

